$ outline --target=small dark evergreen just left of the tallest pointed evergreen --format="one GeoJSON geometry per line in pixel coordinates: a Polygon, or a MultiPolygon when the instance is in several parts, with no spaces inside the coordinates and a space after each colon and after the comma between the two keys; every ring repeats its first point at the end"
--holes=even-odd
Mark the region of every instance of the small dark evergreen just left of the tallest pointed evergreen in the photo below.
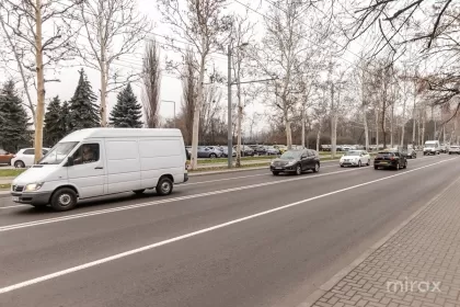
{"type": "Polygon", "coordinates": [[[55,96],[48,104],[45,113],[45,127],[43,128],[44,145],[53,147],[66,135],[65,127],[61,125],[62,116],[59,96],[55,96]]]}

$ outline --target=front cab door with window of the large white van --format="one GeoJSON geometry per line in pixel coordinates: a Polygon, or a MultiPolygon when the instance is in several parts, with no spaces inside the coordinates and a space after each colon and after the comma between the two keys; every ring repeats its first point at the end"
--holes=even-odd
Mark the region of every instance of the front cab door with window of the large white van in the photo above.
{"type": "Polygon", "coordinates": [[[103,143],[83,143],[73,154],[73,166],[67,168],[69,183],[77,186],[80,198],[104,195],[103,143]]]}

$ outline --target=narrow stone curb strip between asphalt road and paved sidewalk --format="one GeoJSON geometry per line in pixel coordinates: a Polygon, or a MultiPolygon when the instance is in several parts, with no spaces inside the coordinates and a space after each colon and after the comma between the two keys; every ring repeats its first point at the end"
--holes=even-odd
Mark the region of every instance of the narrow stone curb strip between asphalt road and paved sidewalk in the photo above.
{"type": "Polygon", "coordinates": [[[403,223],[399,226],[393,228],[387,236],[381,238],[377,241],[373,246],[367,249],[361,255],[359,255],[355,261],[350,264],[338,271],[334,276],[332,276],[327,282],[322,284],[318,289],[315,289],[312,294],[310,294],[306,300],[300,303],[297,307],[311,307],[313,306],[318,299],[320,299],[324,294],[330,292],[342,278],[348,275],[353,270],[355,270],[363,261],[365,261],[372,252],[381,248],[391,237],[393,237],[398,231],[400,231],[403,227],[405,227],[409,223],[411,223],[415,217],[417,217],[423,211],[425,211],[429,205],[436,202],[447,190],[452,187],[456,183],[460,181],[460,177],[457,178],[453,182],[451,182],[447,187],[442,189],[438,194],[436,194],[432,200],[429,200],[425,205],[423,205],[419,209],[413,213],[409,218],[406,218],[403,223]]]}

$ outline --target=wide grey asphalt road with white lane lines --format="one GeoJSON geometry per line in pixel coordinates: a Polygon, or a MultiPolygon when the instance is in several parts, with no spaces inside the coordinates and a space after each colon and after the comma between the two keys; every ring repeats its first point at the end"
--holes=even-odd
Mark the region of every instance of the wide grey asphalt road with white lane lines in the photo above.
{"type": "Polygon", "coordinates": [[[297,306],[459,174],[440,155],[194,177],[68,213],[0,198],[0,306],[297,306]]]}

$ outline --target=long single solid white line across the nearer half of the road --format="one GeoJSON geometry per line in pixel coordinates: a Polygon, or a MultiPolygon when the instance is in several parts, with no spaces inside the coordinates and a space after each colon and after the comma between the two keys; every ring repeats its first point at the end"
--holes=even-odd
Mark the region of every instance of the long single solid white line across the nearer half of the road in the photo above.
{"type": "MultiPolygon", "coordinates": [[[[453,158],[453,159],[456,159],[456,158],[453,158]]],[[[0,294],[11,292],[11,291],[14,291],[14,289],[19,289],[19,288],[22,288],[22,287],[26,287],[26,286],[37,284],[37,283],[41,283],[41,282],[45,282],[45,281],[56,278],[56,277],[59,277],[59,276],[62,276],[62,275],[67,275],[67,274],[70,274],[70,273],[74,273],[74,272],[78,272],[78,271],[81,271],[81,270],[84,270],[84,269],[88,269],[88,268],[96,266],[96,265],[100,265],[100,264],[103,264],[103,263],[106,263],[106,262],[110,262],[110,261],[126,258],[126,257],[131,255],[131,254],[140,253],[142,251],[151,250],[151,249],[154,249],[154,248],[158,248],[158,247],[161,247],[161,246],[165,246],[165,245],[169,245],[169,243],[181,241],[181,240],[184,240],[184,239],[187,239],[187,238],[191,238],[191,237],[195,237],[195,236],[198,236],[198,235],[202,235],[202,234],[206,234],[206,232],[219,229],[219,228],[228,227],[230,225],[242,223],[242,221],[253,219],[253,218],[256,218],[256,217],[260,217],[260,216],[268,215],[268,214],[272,214],[272,213],[275,213],[275,212],[278,212],[278,211],[295,207],[295,206],[298,206],[298,205],[301,205],[301,204],[304,204],[304,203],[308,203],[308,202],[324,198],[326,196],[331,196],[331,195],[338,194],[338,193],[342,193],[342,192],[346,192],[346,191],[349,191],[349,190],[358,189],[358,187],[361,187],[361,186],[365,186],[365,185],[369,185],[369,184],[372,184],[372,183],[376,183],[376,182],[389,180],[389,179],[400,177],[400,175],[404,175],[404,174],[407,174],[407,173],[411,173],[411,172],[419,171],[422,169],[426,169],[426,168],[429,168],[429,167],[433,167],[433,166],[436,166],[436,164],[439,164],[439,163],[444,163],[446,161],[450,161],[450,160],[453,160],[453,159],[442,160],[442,161],[432,163],[432,164],[428,164],[428,166],[425,166],[425,167],[421,167],[421,168],[417,168],[417,169],[409,170],[409,171],[405,171],[405,172],[400,172],[400,173],[389,175],[389,177],[386,177],[386,178],[380,178],[380,179],[376,179],[376,180],[368,181],[368,182],[365,182],[365,183],[348,186],[348,187],[345,187],[345,189],[336,190],[336,191],[333,191],[333,192],[330,192],[330,193],[321,194],[321,195],[318,195],[318,196],[314,196],[314,197],[310,197],[310,198],[306,198],[306,200],[302,200],[302,201],[299,201],[299,202],[290,203],[290,204],[279,206],[279,207],[276,207],[276,208],[273,208],[273,209],[268,209],[268,211],[260,212],[260,213],[256,213],[256,214],[253,214],[253,215],[249,215],[249,216],[244,216],[244,217],[237,218],[237,219],[233,219],[233,220],[229,220],[227,223],[218,224],[216,226],[211,226],[211,227],[204,228],[204,229],[200,229],[200,230],[197,230],[197,231],[185,234],[185,235],[174,237],[174,238],[171,238],[171,239],[168,239],[168,240],[163,240],[163,241],[160,241],[160,242],[157,242],[157,243],[152,243],[152,245],[145,246],[145,247],[137,248],[137,249],[134,249],[134,250],[129,250],[129,251],[125,251],[125,252],[117,253],[117,254],[114,254],[114,255],[111,255],[111,257],[102,258],[102,259],[91,261],[91,262],[88,262],[88,263],[84,263],[84,264],[72,266],[72,268],[69,268],[69,269],[66,269],[66,270],[62,270],[62,271],[58,271],[58,272],[55,272],[55,273],[51,273],[51,274],[43,275],[43,276],[32,278],[32,280],[28,280],[28,281],[25,281],[25,282],[13,284],[13,285],[0,288],[0,294]]]]}

